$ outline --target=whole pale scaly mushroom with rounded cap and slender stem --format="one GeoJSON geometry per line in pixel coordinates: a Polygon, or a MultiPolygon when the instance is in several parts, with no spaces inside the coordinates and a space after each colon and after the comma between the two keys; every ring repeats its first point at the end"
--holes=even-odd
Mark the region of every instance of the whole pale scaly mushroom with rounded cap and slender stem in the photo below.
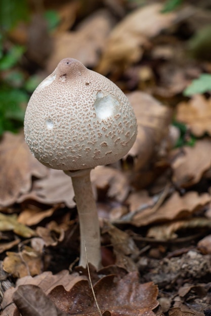
{"type": "Polygon", "coordinates": [[[137,123],[128,98],[106,77],[75,59],[63,59],[31,95],[24,133],[40,163],[72,178],[80,225],[79,265],[86,267],[88,257],[99,269],[100,226],[90,171],[118,161],[134,144],[137,123]]]}

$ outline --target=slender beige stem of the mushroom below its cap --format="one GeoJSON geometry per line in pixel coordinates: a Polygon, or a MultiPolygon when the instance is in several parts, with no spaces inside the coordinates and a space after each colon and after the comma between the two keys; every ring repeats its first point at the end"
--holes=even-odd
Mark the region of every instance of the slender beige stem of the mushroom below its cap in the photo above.
{"type": "Polygon", "coordinates": [[[97,206],[90,180],[91,170],[92,169],[83,169],[76,172],[64,172],[72,178],[72,185],[75,193],[75,201],[79,217],[79,266],[86,268],[87,263],[89,262],[98,270],[101,267],[100,225],[97,213],[97,206]]]}

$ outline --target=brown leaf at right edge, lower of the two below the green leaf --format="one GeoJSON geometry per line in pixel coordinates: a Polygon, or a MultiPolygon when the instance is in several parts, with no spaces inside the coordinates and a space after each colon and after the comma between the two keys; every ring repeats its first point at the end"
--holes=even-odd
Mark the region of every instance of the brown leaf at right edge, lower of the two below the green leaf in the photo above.
{"type": "MultiPolygon", "coordinates": [[[[211,142],[209,138],[196,141],[194,147],[185,146],[171,153],[176,157],[172,163],[173,181],[188,187],[200,181],[203,173],[211,167],[211,142]]],[[[171,158],[171,157],[170,157],[171,158]]]]}

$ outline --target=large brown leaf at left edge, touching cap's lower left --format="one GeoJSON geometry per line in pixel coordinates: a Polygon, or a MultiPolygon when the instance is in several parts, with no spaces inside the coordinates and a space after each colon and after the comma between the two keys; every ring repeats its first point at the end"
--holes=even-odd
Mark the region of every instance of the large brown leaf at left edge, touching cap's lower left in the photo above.
{"type": "Polygon", "coordinates": [[[22,133],[6,132],[0,142],[0,206],[8,206],[27,193],[32,176],[42,178],[47,168],[30,153],[22,133]]]}

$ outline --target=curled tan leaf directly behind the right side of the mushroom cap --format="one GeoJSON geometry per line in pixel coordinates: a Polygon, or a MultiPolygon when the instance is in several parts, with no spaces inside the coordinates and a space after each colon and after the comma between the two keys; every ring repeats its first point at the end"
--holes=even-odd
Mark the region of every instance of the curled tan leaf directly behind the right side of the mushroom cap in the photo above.
{"type": "Polygon", "coordinates": [[[143,168],[154,156],[155,148],[168,135],[172,110],[147,93],[136,91],[127,95],[138,123],[138,135],[128,155],[137,157],[135,170],[143,168]]]}

